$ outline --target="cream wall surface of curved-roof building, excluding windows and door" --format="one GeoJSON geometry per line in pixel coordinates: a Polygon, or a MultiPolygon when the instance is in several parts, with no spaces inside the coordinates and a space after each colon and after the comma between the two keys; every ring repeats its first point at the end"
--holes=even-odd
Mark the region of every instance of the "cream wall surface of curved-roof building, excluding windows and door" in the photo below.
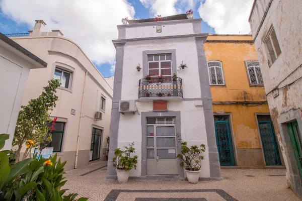
{"type": "Polygon", "coordinates": [[[46,86],[48,80],[53,78],[56,64],[63,67],[70,66],[70,69],[73,69],[71,91],[61,88],[57,89],[58,102],[55,109],[51,112],[51,117],[58,117],[58,121],[66,123],[62,151],[58,153],[62,159],[67,160],[65,169],[71,169],[74,166],[80,116],[82,123],[80,126],[78,167],[87,164],[89,161],[93,127],[103,129],[101,146],[103,150],[101,150],[100,158],[104,160],[106,155],[103,153],[105,153],[105,148],[107,147],[106,138],[109,136],[113,90],[101,73],[85,53],[68,39],[62,37],[23,37],[14,38],[13,40],[48,63],[46,69],[37,69],[29,74],[22,105],[26,105],[30,99],[36,98],[41,94],[43,86],[46,86]],[[48,51],[62,52],[76,58],[78,61],[63,55],[49,53],[48,51]],[[88,70],[91,74],[90,76],[85,75],[86,72],[81,68],[81,65],[88,70]],[[91,76],[97,80],[109,95],[91,76]],[[84,85],[85,89],[83,91],[84,85]],[[102,112],[101,121],[96,121],[94,116],[95,112],[100,111],[101,94],[106,97],[105,113],[102,112]],[[82,114],[80,114],[82,97],[83,107],[82,114]],[[75,110],[75,115],[71,115],[71,109],[75,110]],[[86,153],[87,157],[84,157],[86,153]]]}

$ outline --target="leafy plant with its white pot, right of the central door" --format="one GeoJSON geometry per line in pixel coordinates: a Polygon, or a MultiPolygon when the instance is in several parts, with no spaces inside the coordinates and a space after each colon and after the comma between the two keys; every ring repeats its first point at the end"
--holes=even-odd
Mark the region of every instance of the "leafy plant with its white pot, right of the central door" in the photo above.
{"type": "Polygon", "coordinates": [[[187,142],[183,142],[178,137],[178,142],[181,144],[181,154],[177,155],[177,158],[182,159],[180,165],[185,168],[188,181],[190,183],[197,183],[199,179],[199,172],[201,167],[201,160],[203,160],[202,152],[205,152],[205,145],[201,144],[199,147],[197,145],[187,146],[187,142]]]}

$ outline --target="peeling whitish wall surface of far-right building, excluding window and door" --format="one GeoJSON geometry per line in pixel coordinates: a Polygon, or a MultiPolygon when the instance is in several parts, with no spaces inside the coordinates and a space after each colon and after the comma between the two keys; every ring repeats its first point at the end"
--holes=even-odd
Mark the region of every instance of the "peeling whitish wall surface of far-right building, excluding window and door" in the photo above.
{"type": "MultiPolygon", "coordinates": [[[[269,93],[267,99],[287,169],[286,178],[289,181],[289,186],[291,186],[288,171],[291,169],[291,165],[288,165],[288,160],[294,159],[286,157],[285,151],[288,152],[288,150],[283,146],[284,141],[282,141],[280,131],[282,130],[281,123],[286,123],[286,121],[292,121],[294,119],[293,116],[290,115],[290,111],[301,111],[302,106],[302,79],[298,79],[302,76],[302,67],[300,66],[302,65],[302,57],[300,56],[302,54],[302,4],[295,0],[272,1],[269,7],[269,2],[269,0],[256,1],[249,22],[255,40],[255,48],[264,79],[265,91],[269,93],[275,87],[279,88],[279,95],[277,97],[274,98],[273,93],[269,93]],[[267,9],[268,12],[265,16],[267,9]],[[263,18],[264,21],[261,25],[263,18]],[[269,54],[264,39],[271,26],[273,26],[275,30],[281,54],[277,60],[269,66],[269,54]],[[292,83],[293,81],[295,82],[292,83]],[[288,84],[290,84],[290,86],[281,88],[288,84]],[[279,119],[281,115],[286,116],[287,120],[281,122],[279,119]],[[276,128],[276,125],[279,125],[279,128],[276,128]]],[[[298,123],[302,122],[302,113],[299,113],[301,115],[296,119],[298,123]]],[[[301,130],[302,124],[299,123],[299,127],[301,130]]],[[[285,133],[285,135],[288,134],[285,133]]],[[[285,142],[285,144],[286,143],[287,142],[285,142]]]]}

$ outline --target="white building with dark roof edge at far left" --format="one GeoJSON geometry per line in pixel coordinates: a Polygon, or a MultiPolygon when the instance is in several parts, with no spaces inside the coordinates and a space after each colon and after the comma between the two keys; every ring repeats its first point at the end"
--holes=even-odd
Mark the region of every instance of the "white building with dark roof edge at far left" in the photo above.
{"type": "Polygon", "coordinates": [[[47,63],[0,33],[0,133],[9,134],[4,150],[12,148],[25,84],[31,69],[46,68],[47,63]]]}

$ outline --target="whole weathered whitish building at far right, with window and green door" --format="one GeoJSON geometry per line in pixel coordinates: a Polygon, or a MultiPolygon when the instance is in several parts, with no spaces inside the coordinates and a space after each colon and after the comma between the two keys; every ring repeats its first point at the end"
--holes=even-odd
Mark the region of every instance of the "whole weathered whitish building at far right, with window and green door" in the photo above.
{"type": "Polygon", "coordinates": [[[255,0],[249,22],[290,188],[302,197],[302,4],[255,0]]]}

